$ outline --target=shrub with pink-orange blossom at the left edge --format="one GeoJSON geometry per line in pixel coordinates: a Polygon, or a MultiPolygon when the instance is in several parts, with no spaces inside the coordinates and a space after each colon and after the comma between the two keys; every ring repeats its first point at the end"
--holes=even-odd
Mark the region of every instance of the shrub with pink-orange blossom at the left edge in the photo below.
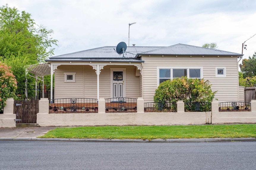
{"type": "Polygon", "coordinates": [[[0,61],[0,113],[4,111],[7,98],[15,97],[17,82],[15,76],[6,64],[0,61]]]}

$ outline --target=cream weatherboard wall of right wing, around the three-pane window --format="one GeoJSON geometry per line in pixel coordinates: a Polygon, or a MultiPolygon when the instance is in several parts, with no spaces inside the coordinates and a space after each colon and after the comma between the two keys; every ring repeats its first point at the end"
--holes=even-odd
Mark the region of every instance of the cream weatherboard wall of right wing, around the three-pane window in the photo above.
{"type": "Polygon", "coordinates": [[[231,56],[142,56],[143,98],[152,102],[157,88],[157,67],[202,67],[203,78],[212,84],[212,91],[217,91],[215,98],[219,102],[238,101],[237,57],[231,56]],[[225,68],[226,76],[217,77],[216,68],[225,68]]]}

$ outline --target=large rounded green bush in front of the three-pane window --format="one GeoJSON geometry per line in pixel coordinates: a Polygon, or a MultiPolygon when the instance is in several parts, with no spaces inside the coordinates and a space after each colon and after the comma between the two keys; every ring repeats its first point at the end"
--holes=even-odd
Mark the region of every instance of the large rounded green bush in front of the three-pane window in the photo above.
{"type": "Polygon", "coordinates": [[[208,80],[175,78],[162,82],[156,89],[154,102],[175,103],[178,100],[186,102],[208,102],[214,99],[216,92],[211,91],[208,80]]]}

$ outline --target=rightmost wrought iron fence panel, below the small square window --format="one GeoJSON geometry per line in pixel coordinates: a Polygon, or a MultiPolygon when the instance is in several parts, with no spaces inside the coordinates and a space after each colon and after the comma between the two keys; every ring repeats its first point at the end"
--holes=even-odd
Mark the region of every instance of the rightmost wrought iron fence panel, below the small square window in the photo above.
{"type": "Polygon", "coordinates": [[[251,111],[251,103],[229,101],[219,103],[219,111],[251,111]]]}

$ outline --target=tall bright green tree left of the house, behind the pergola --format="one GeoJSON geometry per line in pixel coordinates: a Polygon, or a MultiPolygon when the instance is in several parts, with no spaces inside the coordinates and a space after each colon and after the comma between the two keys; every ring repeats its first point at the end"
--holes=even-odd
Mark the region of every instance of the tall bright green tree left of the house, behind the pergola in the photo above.
{"type": "MultiPolygon", "coordinates": [[[[53,30],[38,26],[31,14],[8,4],[0,7],[0,61],[12,67],[17,77],[16,94],[25,94],[25,66],[44,62],[53,55],[53,45],[57,40],[51,38],[53,30]]],[[[35,80],[28,77],[28,85],[34,88],[35,80]]]]}

